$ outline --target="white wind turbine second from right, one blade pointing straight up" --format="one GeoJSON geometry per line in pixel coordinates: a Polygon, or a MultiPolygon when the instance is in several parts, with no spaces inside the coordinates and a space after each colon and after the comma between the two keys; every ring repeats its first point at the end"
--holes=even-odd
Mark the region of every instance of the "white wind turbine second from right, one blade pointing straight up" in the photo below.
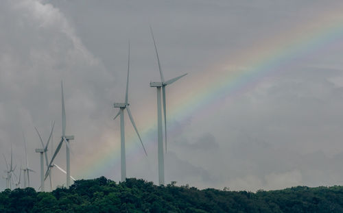
{"type": "MultiPolygon", "coordinates": [[[[120,115],[121,181],[126,180],[126,154],[125,154],[125,129],[124,129],[124,110],[125,109],[128,112],[128,116],[130,118],[132,126],[134,127],[134,130],[136,131],[137,136],[138,136],[139,140],[141,141],[141,145],[144,149],[145,155],[147,155],[147,151],[145,150],[145,147],[144,147],[143,142],[141,140],[141,136],[139,135],[136,124],[134,123],[134,120],[132,118],[132,114],[131,114],[130,107],[129,107],[130,103],[128,103],[129,71],[130,71],[130,43],[129,43],[129,48],[128,48],[128,77],[126,80],[125,103],[114,103],[113,104],[114,108],[119,108],[119,112],[115,116],[115,118],[117,118],[117,116],[120,115]]],[[[115,120],[115,118],[113,118],[113,120],[115,120]]]]}

